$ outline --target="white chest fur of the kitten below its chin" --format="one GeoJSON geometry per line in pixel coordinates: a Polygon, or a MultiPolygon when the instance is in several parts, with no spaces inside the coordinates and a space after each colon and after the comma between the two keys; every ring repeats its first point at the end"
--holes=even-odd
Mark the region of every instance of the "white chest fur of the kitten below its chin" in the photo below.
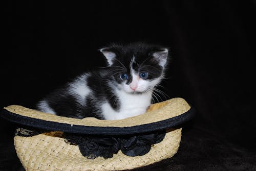
{"type": "Polygon", "coordinates": [[[117,90],[116,93],[119,96],[120,110],[116,111],[108,102],[104,103],[102,105],[102,113],[106,120],[123,119],[143,114],[151,104],[151,92],[131,94],[123,90],[117,90]]]}

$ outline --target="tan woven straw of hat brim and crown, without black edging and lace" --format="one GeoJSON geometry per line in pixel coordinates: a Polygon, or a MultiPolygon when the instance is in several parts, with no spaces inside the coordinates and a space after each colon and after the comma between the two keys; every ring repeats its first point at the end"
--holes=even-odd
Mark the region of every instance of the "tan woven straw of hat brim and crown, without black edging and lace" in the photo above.
{"type": "MultiPolygon", "coordinates": [[[[38,112],[20,106],[9,106],[8,111],[39,119],[85,126],[130,127],[150,124],[181,115],[190,106],[180,98],[154,104],[142,115],[122,120],[73,119],[38,112]],[[49,117],[49,118],[48,118],[49,117]]],[[[62,132],[42,133],[32,137],[15,136],[14,145],[18,158],[26,170],[126,170],[146,166],[174,156],[181,140],[181,128],[169,129],[160,143],[153,144],[143,156],[130,157],[121,151],[112,158],[88,159],[81,155],[77,145],[70,145],[61,137],[62,132]]]]}

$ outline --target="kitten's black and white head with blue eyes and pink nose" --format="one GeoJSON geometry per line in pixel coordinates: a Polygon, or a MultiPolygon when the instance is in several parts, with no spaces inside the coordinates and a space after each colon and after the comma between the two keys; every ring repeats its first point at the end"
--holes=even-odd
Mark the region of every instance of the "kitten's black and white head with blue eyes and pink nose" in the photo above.
{"type": "Polygon", "coordinates": [[[101,48],[118,83],[127,93],[153,90],[163,78],[168,49],[158,45],[134,43],[101,48]]]}

